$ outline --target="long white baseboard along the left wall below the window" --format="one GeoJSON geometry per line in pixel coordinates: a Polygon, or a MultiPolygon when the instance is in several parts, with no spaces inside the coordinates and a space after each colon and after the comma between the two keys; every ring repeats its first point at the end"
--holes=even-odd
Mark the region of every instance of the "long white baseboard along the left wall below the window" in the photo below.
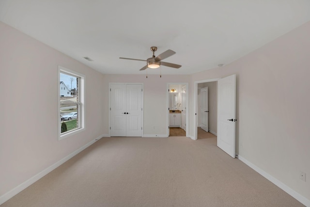
{"type": "Polygon", "coordinates": [[[30,185],[35,183],[39,179],[41,179],[42,177],[44,177],[45,175],[47,175],[51,171],[55,170],[57,167],[62,165],[64,162],[66,162],[69,159],[73,158],[78,153],[80,153],[81,151],[83,151],[84,149],[86,149],[87,147],[89,147],[90,145],[95,143],[96,141],[100,140],[102,137],[105,137],[105,135],[104,134],[100,135],[99,137],[97,137],[96,139],[92,140],[91,142],[85,144],[84,146],[80,147],[79,149],[77,149],[73,153],[69,154],[68,156],[64,157],[63,159],[59,160],[58,162],[52,164],[51,166],[49,166],[45,170],[41,171],[37,175],[34,175],[30,179],[28,179],[25,182],[21,183],[20,185],[16,186],[11,191],[8,191],[8,192],[4,193],[3,195],[0,196],[0,205],[3,204],[4,202],[6,202],[7,200],[9,200],[10,198],[12,198],[13,196],[15,196],[17,193],[23,191],[24,189],[26,189],[27,187],[29,187],[30,185]]]}

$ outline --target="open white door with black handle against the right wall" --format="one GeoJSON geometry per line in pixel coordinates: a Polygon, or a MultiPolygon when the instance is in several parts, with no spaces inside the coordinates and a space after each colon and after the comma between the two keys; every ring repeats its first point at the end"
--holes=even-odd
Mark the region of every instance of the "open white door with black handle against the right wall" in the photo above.
{"type": "Polygon", "coordinates": [[[235,74],[217,80],[217,106],[217,146],[235,158],[235,74]]]}

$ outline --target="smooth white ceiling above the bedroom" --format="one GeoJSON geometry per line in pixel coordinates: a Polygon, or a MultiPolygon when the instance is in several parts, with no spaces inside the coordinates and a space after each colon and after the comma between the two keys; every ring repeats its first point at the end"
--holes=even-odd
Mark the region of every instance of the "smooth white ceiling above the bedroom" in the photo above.
{"type": "Polygon", "coordinates": [[[193,74],[310,21],[310,0],[0,0],[0,21],[103,74],[145,74],[119,57],[147,59],[151,46],[182,65],[162,74],[193,74]]]}

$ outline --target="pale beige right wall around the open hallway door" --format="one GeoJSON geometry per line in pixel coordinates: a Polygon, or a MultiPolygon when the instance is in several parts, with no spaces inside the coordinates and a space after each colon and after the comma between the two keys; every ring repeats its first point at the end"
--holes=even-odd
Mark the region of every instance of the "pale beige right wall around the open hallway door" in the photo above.
{"type": "MultiPolygon", "coordinates": [[[[236,74],[237,153],[310,199],[310,22],[194,81],[236,74]]],[[[190,116],[190,122],[194,120],[190,116]]],[[[194,127],[190,134],[193,135],[194,127]]]]}

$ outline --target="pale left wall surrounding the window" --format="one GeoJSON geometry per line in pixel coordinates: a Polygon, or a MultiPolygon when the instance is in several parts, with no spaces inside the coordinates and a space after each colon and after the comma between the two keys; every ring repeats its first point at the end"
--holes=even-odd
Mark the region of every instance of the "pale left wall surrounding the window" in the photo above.
{"type": "Polygon", "coordinates": [[[0,197],[107,133],[104,75],[0,22],[0,197]],[[58,65],[84,74],[86,130],[58,140],[58,65]]]}

